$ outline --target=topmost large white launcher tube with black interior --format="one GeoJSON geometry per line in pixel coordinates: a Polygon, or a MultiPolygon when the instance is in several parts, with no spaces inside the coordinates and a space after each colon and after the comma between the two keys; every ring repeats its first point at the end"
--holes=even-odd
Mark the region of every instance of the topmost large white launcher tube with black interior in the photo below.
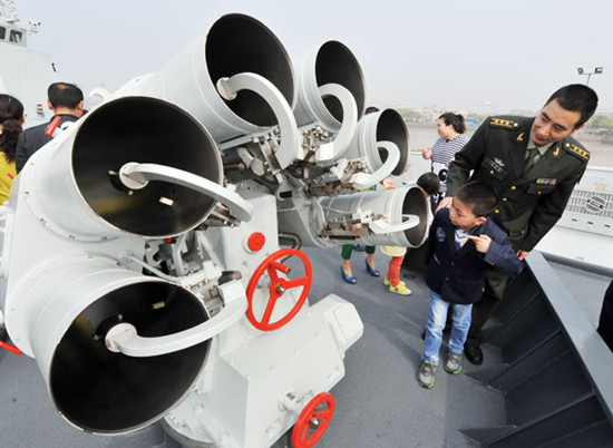
{"type": "Polygon", "coordinates": [[[145,95],[176,104],[221,143],[278,124],[261,95],[251,90],[239,91],[235,99],[220,95],[220,79],[245,72],[267,79],[293,107],[293,69],[281,41],[252,17],[226,14],[213,23],[206,37],[160,70],[124,86],[117,95],[145,95]]]}

